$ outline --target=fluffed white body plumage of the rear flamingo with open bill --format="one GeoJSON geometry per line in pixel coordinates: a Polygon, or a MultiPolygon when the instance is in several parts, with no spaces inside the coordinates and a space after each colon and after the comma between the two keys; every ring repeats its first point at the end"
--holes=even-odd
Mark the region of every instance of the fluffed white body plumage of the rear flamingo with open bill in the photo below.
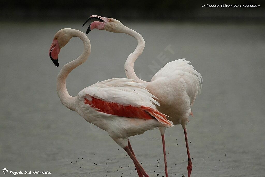
{"type": "Polygon", "coordinates": [[[169,120],[174,124],[182,124],[183,128],[186,127],[191,106],[200,93],[202,84],[201,74],[189,63],[185,58],[167,63],[147,86],[158,98],[158,109],[170,116],[169,120]]]}

